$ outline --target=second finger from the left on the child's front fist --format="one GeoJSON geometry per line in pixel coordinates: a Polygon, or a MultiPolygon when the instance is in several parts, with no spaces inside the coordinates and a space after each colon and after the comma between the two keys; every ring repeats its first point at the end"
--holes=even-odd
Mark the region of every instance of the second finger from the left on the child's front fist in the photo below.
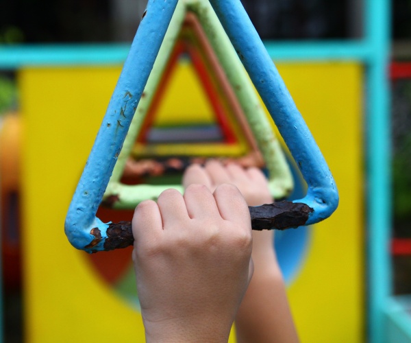
{"type": "Polygon", "coordinates": [[[174,224],[188,220],[186,203],[183,196],[175,189],[166,189],[157,200],[160,209],[164,230],[172,228],[174,224]]]}

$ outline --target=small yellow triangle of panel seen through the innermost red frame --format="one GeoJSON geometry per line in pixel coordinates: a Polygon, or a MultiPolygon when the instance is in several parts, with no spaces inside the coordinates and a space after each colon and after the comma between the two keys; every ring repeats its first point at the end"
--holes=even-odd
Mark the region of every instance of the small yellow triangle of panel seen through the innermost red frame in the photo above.
{"type": "Polygon", "coordinates": [[[171,74],[169,84],[155,113],[155,126],[215,123],[214,110],[192,64],[181,62],[171,74]]]}

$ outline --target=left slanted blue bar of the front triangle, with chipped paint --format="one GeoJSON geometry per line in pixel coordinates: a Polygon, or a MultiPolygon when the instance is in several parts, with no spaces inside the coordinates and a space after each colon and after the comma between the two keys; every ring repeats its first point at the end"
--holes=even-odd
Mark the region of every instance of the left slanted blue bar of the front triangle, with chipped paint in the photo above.
{"type": "Polygon", "coordinates": [[[103,250],[108,224],[95,215],[176,5],[149,0],[66,216],[65,232],[75,248],[103,250]],[[103,239],[92,235],[95,230],[103,239]]]}

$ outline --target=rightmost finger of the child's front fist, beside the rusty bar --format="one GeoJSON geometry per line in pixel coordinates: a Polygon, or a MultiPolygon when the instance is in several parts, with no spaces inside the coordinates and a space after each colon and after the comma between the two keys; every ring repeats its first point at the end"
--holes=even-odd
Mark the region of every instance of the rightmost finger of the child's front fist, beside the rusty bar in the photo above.
{"type": "Polygon", "coordinates": [[[251,226],[247,203],[236,186],[220,185],[214,191],[214,198],[224,220],[238,224],[248,222],[251,226]]]}

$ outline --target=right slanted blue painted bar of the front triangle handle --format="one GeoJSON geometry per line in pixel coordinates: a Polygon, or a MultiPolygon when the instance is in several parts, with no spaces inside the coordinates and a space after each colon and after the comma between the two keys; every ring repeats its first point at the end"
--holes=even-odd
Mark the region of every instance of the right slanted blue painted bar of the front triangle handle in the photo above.
{"type": "Polygon", "coordinates": [[[336,210],[339,199],[323,154],[240,0],[210,0],[210,3],[307,182],[306,197],[294,202],[308,204],[314,210],[307,225],[324,220],[336,210]]]}

